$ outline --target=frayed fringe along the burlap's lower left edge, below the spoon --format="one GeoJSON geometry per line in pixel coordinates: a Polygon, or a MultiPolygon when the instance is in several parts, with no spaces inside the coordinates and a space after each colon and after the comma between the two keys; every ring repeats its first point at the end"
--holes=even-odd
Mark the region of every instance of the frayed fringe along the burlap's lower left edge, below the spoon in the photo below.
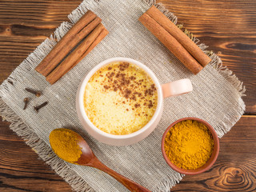
{"type": "Polygon", "coordinates": [[[10,122],[10,129],[13,130],[18,136],[21,136],[26,144],[30,146],[46,164],[51,168],[70,186],[76,191],[92,192],[94,190],[68,167],[68,164],[62,159],[58,158],[50,146],[48,146],[42,139],[38,138],[37,134],[34,134],[33,130],[27,126],[9,106],[0,98],[0,116],[3,121],[10,122]]]}

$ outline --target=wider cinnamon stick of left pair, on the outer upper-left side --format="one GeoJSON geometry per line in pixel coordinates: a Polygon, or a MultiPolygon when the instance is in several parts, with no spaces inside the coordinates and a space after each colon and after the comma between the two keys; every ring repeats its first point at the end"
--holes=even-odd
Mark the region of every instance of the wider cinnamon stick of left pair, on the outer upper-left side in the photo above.
{"type": "Polygon", "coordinates": [[[100,18],[92,11],[88,10],[86,14],[82,16],[74,24],[74,26],[64,35],[64,37],[54,46],[46,58],[35,68],[38,73],[46,76],[50,74],[58,63],[65,58],[66,54],[70,52],[82,40],[91,30],[94,30],[95,26],[101,22],[100,18]],[[72,41],[71,41],[72,40],[72,41]]]}

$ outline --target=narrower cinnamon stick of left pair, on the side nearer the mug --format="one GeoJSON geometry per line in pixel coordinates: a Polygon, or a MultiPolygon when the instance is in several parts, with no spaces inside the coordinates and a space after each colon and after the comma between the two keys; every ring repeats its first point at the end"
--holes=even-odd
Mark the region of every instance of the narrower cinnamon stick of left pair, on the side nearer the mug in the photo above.
{"type": "Polygon", "coordinates": [[[66,74],[74,64],[77,64],[78,60],[82,60],[82,55],[84,55],[86,50],[88,50],[93,42],[95,42],[95,39],[99,34],[101,34],[103,29],[105,29],[105,27],[102,23],[99,23],[98,26],[96,26],[96,28],[81,42],[81,44],[48,76],[46,76],[46,81],[50,82],[50,84],[54,84],[54,82],[57,82],[59,78],[62,78],[62,76],[66,74]]]}

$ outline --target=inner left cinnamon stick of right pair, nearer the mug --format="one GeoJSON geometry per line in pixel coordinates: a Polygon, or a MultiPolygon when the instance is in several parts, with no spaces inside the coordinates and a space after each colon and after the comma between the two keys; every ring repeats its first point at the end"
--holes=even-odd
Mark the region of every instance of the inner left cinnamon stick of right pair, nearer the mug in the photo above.
{"type": "Polygon", "coordinates": [[[178,60],[180,60],[191,72],[198,74],[198,72],[202,70],[202,66],[190,55],[182,44],[180,44],[176,38],[169,34],[148,14],[142,14],[138,20],[142,22],[142,24],[146,26],[146,28],[150,30],[150,32],[154,34],[154,36],[158,38],[158,40],[162,42],[162,44],[164,44],[166,48],[170,50],[170,52],[174,54],[174,56],[178,58],[178,60]]]}

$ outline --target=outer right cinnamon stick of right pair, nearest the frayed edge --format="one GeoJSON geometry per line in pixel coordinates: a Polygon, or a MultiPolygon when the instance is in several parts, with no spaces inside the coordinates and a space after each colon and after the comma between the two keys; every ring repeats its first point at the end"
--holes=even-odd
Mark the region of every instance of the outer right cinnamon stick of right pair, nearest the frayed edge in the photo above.
{"type": "Polygon", "coordinates": [[[162,26],[169,34],[177,39],[185,49],[201,64],[206,66],[210,62],[210,58],[203,53],[203,51],[186,35],[182,30],[178,28],[169,18],[166,18],[164,14],[157,7],[151,6],[146,11],[151,18],[153,18],[160,26],[162,26]]]}

